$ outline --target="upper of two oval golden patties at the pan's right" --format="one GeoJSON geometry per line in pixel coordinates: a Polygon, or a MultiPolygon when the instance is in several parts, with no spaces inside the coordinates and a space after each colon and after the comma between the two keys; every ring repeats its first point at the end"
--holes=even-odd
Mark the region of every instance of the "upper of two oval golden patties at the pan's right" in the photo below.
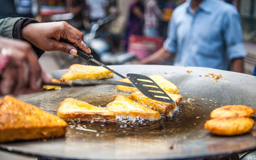
{"type": "Polygon", "coordinates": [[[252,117],[255,109],[244,105],[228,105],[216,108],[211,112],[211,118],[252,117]]]}

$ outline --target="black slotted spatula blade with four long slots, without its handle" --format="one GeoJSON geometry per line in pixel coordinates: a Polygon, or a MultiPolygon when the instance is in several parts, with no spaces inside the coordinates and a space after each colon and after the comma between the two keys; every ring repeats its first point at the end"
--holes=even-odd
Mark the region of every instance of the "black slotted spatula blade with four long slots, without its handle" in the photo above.
{"type": "Polygon", "coordinates": [[[175,104],[175,102],[159,87],[151,78],[139,74],[127,74],[128,79],[138,90],[148,98],[166,103],[175,104]]]}

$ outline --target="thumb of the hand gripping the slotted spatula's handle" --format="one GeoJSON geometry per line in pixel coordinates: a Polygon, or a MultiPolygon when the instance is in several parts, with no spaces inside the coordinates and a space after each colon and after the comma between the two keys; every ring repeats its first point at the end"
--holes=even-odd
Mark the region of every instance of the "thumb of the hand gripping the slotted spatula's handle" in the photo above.
{"type": "Polygon", "coordinates": [[[55,51],[61,51],[61,52],[71,54],[73,56],[77,56],[77,50],[74,46],[72,46],[68,43],[59,42],[56,40],[52,40],[52,41],[53,41],[52,43],[54,44],[55,51]]]}

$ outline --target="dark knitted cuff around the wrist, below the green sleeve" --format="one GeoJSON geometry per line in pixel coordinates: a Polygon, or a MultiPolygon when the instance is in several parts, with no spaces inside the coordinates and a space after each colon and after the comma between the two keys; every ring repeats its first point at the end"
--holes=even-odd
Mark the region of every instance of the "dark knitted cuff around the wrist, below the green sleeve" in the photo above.
{"type": "MultiPolygon", "coordinates": [[[[13,38],[22,40],[21,30],[29,23],[39,23],[39,22],[33,18],[23,18],[21,20],[18,20],[15,23],[13,31],[12,31],[13,38]]],[[[44,53],[43,50],[37,48],[33,44],[31,44],[31,45],[32,45],[33,49],[35,50],[38,57],[40,57],[44,53]]]]}

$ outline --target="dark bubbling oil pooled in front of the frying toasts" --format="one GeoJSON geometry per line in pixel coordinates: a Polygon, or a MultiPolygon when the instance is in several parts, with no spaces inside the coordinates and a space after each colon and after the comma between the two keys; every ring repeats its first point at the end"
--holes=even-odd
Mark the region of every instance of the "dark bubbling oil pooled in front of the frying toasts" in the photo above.
{"type": "Polygon", "coordinates": [[[158,121],[117,116],[116,123],[69,122],[67,138],[94,139],[113,137],[145,137],[173,135],[189,127],[197,127],[191,119],[196,108],[201,106],[182,101],[172,117],[162,116],[158,121]]]}

